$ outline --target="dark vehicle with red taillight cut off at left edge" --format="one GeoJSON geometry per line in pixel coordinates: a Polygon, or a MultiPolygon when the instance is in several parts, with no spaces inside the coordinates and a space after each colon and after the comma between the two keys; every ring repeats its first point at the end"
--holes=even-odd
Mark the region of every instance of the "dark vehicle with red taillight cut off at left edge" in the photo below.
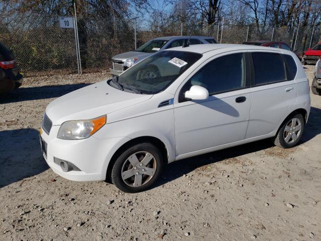
{"type": "Polygon", "coordinates": [[[0,42],[0,93],[22,85],[23,76],[17,70],[15,55],[0,42]]]}

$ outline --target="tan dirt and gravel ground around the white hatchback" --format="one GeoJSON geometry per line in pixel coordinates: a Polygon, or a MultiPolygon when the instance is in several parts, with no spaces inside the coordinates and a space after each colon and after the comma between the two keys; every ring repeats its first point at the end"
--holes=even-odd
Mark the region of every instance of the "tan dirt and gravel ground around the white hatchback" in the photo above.
{"type": "Polygon", "coordinates": [[[107,77],[30,77],[0,97],[0,240],[321,240],[321,96],[297,147],[265,140],[178,161],[126,194],[68,181],[40,151],[47,104],[107,77]]]}

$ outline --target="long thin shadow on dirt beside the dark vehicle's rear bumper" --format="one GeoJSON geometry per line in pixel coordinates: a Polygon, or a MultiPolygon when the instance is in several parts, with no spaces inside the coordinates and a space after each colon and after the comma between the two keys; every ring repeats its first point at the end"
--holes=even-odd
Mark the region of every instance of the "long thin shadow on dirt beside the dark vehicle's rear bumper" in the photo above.
{"type": "Polygon", "coordinates": [[[10,93],[0,95],[0,103],[14,103],[26,100],[49,99],[60,97],[89,84],[46,85],[39,87],[21,87],[10,93]]]}

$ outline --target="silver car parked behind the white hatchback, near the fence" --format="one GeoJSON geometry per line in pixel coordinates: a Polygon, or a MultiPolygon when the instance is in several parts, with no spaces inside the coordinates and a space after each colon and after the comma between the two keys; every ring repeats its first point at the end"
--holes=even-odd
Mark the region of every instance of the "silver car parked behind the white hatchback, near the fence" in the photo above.
{"type": "Polygon", "coordinates": [[[147,43],[140,46],[138,49],[130,52],[125,52],[112,57],[112,68],[110,74],[119,75],[124,70],[128,69],[137,62],[143,60],[149,55],[158,52],[159,50],[170,49],[186,45],[190,38],[189,44],[216,44],[213,37],[206,36],[169,36],[159,37],[149,40],[147,43]]]}

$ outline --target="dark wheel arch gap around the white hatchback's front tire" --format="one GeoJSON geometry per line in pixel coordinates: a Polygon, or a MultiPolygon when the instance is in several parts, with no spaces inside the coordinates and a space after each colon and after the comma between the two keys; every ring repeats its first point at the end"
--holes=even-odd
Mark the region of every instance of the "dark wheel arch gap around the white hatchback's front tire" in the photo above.
{"type": "Polygon", "coordinates": [[[138,143],[151,143],[153,145],[155,145],[162,153],[162,157],[163,160],[165,161],[165,163],[168,163],[169,160],[169,152],[168,152],[168,148],[166,147],[166,145],[164,144],[164,142],[162,142],[161,140],[159,140],[158,138],[155,137],[151,137],[151,136],[142,136],[142,137],[137,137],[134,139],[129,140],[128,142],[126,142],[125,144],[123,144],[121,147],[119,147],[117,149],[117,151],[113,154],[113,156],[110,159],[110,162],[108,164],[107,167],[107,173],[106,173],[106,181],[111,183],[111,171],[113,168],[113,165],[115,164],[117,158],[128,148],[138,144],[138,143]]]}

